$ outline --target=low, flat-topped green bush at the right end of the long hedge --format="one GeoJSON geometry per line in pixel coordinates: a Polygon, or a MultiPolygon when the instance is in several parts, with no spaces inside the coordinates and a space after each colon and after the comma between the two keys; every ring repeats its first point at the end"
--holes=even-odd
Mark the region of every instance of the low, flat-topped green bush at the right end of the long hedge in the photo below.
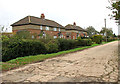
{"type": "Polygon", "coordinates": [[[77,46],[90,46],[92,45],[91,39],[77,39],[77,46]]]}

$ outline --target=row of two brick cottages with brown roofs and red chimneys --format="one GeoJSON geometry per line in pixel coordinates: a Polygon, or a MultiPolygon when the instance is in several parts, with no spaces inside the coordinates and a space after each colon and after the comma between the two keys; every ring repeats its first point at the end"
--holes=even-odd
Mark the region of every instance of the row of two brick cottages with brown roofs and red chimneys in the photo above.
{"type": "MultiPolygon", "coordinates": [[[[73,25],[68,24],[65,27],[61,24],[45,19],[44,14],[41,17],[27,16],[12,25],[13,33],[20,31],[30,31],[31,34],[36,33],[37,38],[41,38],[46,35],[51,35],[54,38],[65,38],[65,39],[76,39],[79,36],[85,37],[87,33],[84,29],[76,26],[74,22],[73,25]]],[[[34,38],[34,34],[32,35],[34,38]]]]}

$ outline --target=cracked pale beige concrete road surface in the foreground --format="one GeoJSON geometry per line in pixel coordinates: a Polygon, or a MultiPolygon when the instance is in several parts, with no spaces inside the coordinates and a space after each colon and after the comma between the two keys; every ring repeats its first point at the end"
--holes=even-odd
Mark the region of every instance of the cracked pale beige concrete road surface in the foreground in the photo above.
{"type": "Polygon", "coordinates": [[[3,82],[117,82],[118,41],[28,64],[1,77],[3,82]]]}

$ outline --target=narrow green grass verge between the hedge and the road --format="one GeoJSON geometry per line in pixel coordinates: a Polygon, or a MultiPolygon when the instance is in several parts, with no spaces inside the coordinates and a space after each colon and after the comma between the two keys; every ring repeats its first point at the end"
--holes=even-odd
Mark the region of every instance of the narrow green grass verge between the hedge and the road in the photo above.
{"type": "MultiPolygon", "coordinates": [[[[105,43],[108,43],[108,42],[103,42],[102,44],[105,44],[105,43]]],[[[40,62],[40,61],[43,61],[47,58],[52,58],[55,56],[60,56],[60,55],[64,55],[67,53],[72,53],[75,51],[91,48],[91,47],[94,47],[97,45],[101,45],[101,44],[93,44],[91,46],[75,48],[75,49],[71,49],[71,50],[67,50],[67,51],[60,51],[60,52],[52,53],[52,54],[40,54],[40,55],[34,55],[34,56],[18,57],[16,59],[12,59],[12,60],[7,61],[7,62],[2,62],[2,63],[0,63],[0,65],[2,65],[3,71],[7,71],[7,70],[11,70],[11,69],[23,66],[25,64],[40,62]]]]}

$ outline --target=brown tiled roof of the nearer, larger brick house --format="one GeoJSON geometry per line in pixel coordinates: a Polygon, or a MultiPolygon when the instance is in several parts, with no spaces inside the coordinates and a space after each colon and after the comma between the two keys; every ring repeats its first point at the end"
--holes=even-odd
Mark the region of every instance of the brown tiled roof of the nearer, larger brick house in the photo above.
{"type": "Polygon", "coordinates": [[[48,20],[48,19],[42,19],[42,18],[38,18],[38,17],[34,17],[34,16],[27,16],[27,17],[13,23],[11,26],[19,26],[19,25],[26,25],[26,24],[44,25],[44,26],[64,28],[62,25],[58,24],[55,21],[48,20]]]}

